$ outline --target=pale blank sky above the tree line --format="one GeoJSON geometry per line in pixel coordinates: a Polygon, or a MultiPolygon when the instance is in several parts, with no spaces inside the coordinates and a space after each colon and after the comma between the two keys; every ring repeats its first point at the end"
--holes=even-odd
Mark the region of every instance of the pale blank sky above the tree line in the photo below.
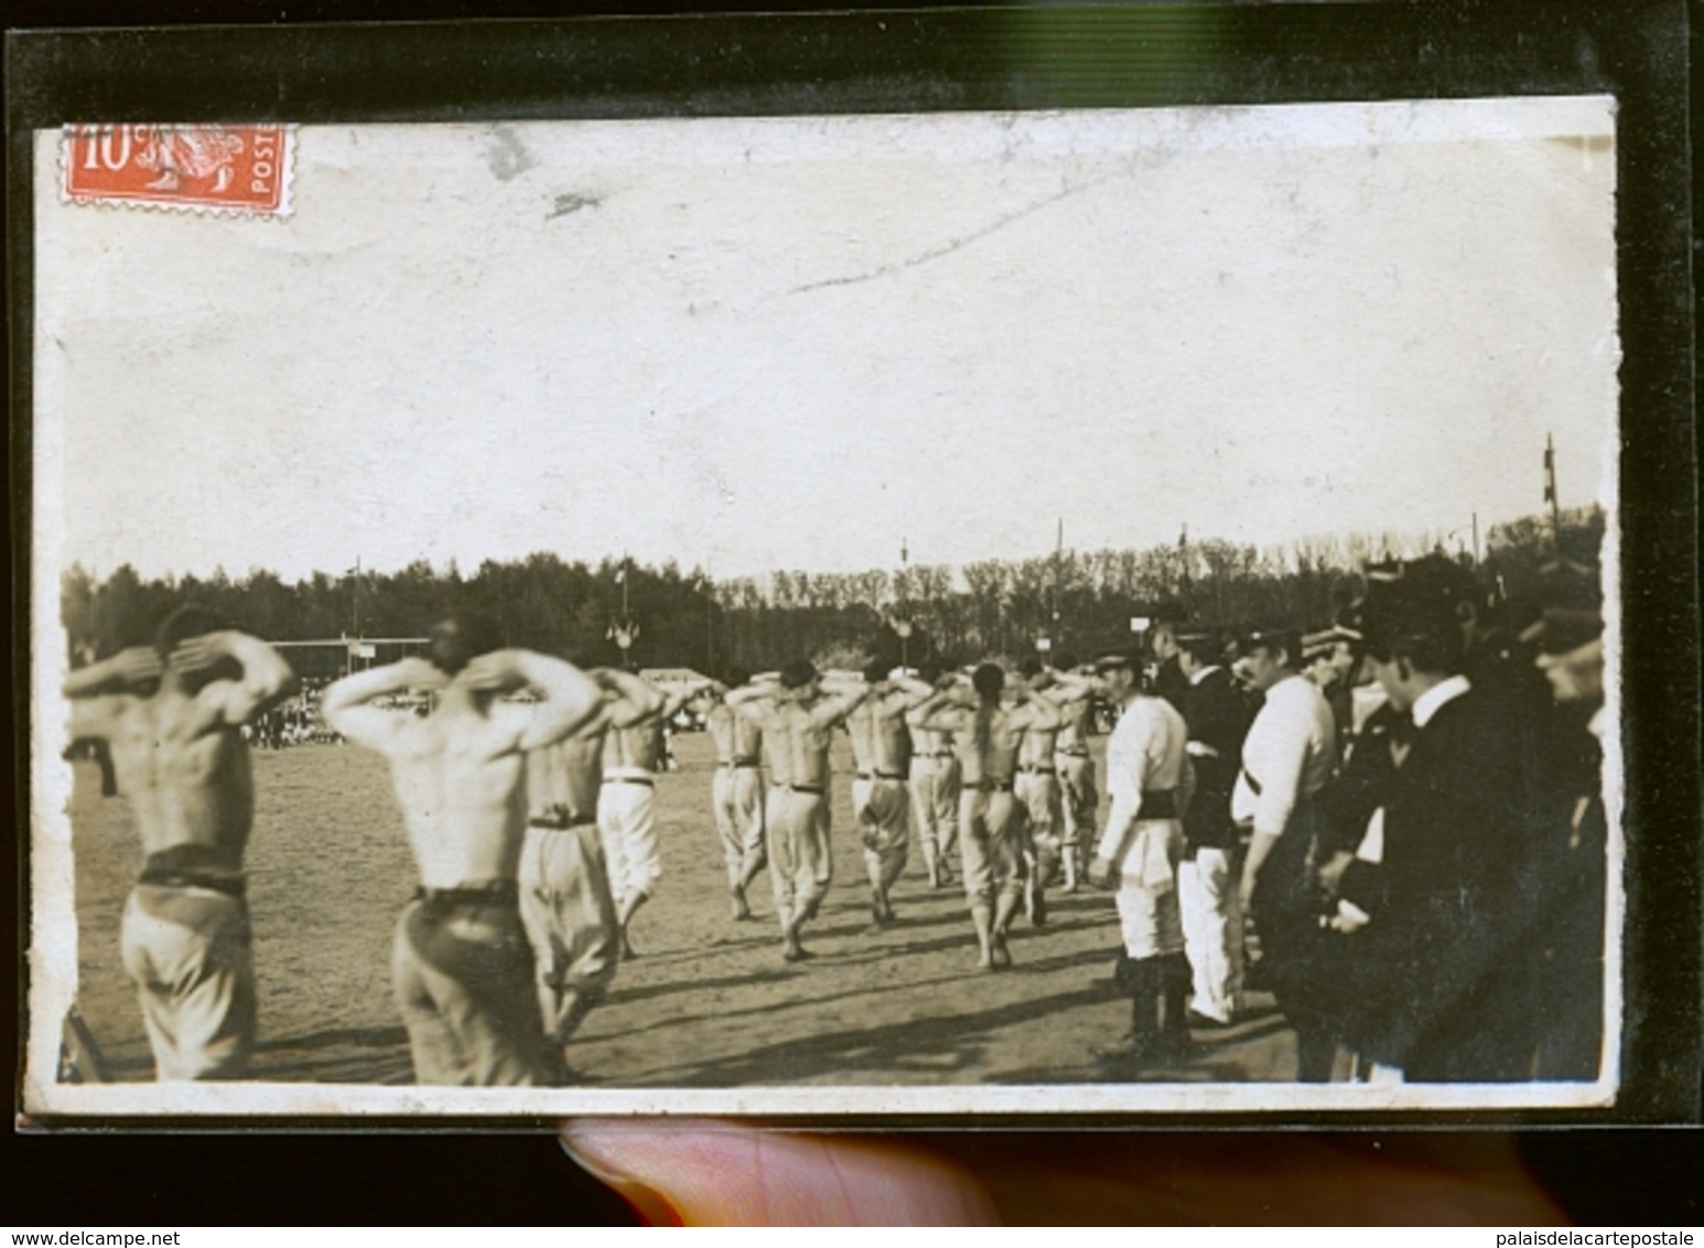
{"type": "MultiPolygon", "coordinates": [[[[1605,99],[296,131],[293,215],[61,203],[37,568],[716,576],[1607,496],[1605,99]]],[[[51,573],[56,575],[56,573],[51,573]]]]}

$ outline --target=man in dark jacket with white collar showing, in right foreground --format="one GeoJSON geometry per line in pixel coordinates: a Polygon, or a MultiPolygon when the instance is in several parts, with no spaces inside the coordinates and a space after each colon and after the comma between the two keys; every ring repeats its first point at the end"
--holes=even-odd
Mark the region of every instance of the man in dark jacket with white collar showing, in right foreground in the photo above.
{"type": "Polygon", "coordinates": [[[1343,1038],[1379,1079],[1530,1078],[1522,754],[1462,673],[1460,578],[1373,585],[1367,655],[1413,743],[1353,856],[1322,873],[1350,931],[1343,1038]]]}

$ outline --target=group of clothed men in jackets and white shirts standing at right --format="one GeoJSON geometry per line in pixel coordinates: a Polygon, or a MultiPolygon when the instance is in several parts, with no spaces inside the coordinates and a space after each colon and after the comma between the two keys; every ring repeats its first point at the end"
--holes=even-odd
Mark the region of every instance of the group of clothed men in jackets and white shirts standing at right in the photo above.
{"type": "Polygon", "coordinates": [[[1101,1057],[1176,1059],[1254,980],[1304,1081],[1598,1078],[1607,721],[1583,597],[1510,638],[1472,571],[1428,556],[1372,568],[1326,633],[1227,653],[1162,627],[1102,656],[1116,827],[1091,873],[1118,888],[1133,1025],[1101,1057]]]}

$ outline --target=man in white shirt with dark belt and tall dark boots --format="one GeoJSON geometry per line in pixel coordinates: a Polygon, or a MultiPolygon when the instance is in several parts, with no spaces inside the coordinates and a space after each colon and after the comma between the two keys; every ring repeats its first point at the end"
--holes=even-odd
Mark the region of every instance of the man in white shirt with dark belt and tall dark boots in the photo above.
{"type": "Polygon", "coordinates": [[[1148,692],[1140,656],[1106,655],[1096,672],[1101,692],[1120,714],[1106,743],[1111,812],[1089,880],[1118,888],[1123,955],[1116,979],[1133,1009],[1130,1043],[1094,1054],[1120,1064],[1150,1057],[1177,1062],[1189,1050],[1189,962],[1177,905],[1181,815],[1191,788],[1189,730],[1171,702],[1148,692]]]}

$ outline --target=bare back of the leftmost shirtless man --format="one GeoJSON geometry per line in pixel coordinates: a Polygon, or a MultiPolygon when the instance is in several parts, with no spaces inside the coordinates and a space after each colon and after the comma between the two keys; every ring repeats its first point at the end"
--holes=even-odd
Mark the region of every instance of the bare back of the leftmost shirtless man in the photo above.
{"type": "Polygon", "coordinates": [[[145,854],[203,846],[232,870],[242,866],[254,776],[240,728],[210,723],[194,699],[167,689],[124,697],[106,740],[145,854]]]}

